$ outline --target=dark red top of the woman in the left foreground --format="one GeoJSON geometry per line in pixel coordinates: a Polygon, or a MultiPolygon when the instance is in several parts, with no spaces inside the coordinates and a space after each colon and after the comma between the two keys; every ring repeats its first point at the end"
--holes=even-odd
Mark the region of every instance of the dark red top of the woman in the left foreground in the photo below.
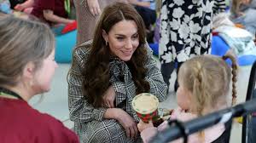
{"type": "Polygon", "coordinates": [[[33,109],[24,100],[0,97],[1,143],[77,143],[70,129],[48,114],[33,109]]]}

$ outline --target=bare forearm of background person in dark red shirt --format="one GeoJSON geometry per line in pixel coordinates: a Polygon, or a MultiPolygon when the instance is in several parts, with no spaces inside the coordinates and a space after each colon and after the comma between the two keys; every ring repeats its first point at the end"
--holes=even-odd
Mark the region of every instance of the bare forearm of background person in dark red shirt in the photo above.
{"type": "Polygon", "coordinates": [[[68,23],[72,23],[74,21],[74,20],[69,20],[69,19],[60,17],[58,15],[55,15],[53,13],[53,11],[49,10],[49,9],[43,10],[43,13],[44,13],[44,18],[46,20],[51,21],[51,22],[61,23],[61,24],[68,24],[68,23]]]}

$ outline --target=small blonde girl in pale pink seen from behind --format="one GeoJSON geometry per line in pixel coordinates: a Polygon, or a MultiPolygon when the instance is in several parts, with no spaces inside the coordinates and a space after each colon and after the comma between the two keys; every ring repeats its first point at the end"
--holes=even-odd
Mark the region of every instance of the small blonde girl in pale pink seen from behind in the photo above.
{"type": "MultiPolygon", "coordinates": [[[[178,72],[177,109],[170,119],[188,121],[228,106],[228,94],[232,76],[232,104],[236,103],[236,59],[231,54],[219,58],[213,55],[199,55],[183,63],[178,72]],[[224,61],[232,61],[232,70],[224,61]]],[[[137,124],[143,142],[148,142],[154,135],[166,129],[168,122],[154,128],[152,123],[137,124]]],[[[230,129],[224,124],[217,124],[199,133],[189,135],[189,143],[226,142],[230,139],[230,129]]],[[[174,140],[173,142],[182,142],[174,140]]]]}

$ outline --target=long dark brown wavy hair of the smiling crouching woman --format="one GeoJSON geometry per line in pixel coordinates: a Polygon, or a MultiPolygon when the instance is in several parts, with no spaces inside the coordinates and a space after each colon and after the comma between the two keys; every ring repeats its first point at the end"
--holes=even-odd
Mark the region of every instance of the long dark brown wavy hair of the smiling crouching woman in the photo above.
{"type": "Polygon", "coordinates": [[[84,63],[83,93],[90,104],[95,107],[102,106],[102,96],[111,85],[109,79],[110,49],[102,37],[102,31],[107,34],[112,27],[122,20],[133,20],[137,24],[139,45],[126,64],[131,71],[132,80],[137,94],[148,92],[149,83],[145,80],[147,69],[144,64],[147,60],[145,47],[145,26],[142,17],[128,3],[113,3],[106,7],[96,25],[92,46],[88,60],[84,63]]]}

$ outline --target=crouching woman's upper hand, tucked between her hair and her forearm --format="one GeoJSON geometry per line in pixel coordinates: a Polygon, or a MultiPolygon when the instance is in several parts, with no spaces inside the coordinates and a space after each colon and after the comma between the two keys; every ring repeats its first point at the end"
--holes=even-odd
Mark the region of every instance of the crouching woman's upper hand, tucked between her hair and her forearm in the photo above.
{"type": "Polygon", "coordinates": [[[106,93],[103,95],[103,106],[106,106],[107,108],[113,108],[115,100],[115,91],[113,89],[113,85],[109,86],[106,93]]]}

